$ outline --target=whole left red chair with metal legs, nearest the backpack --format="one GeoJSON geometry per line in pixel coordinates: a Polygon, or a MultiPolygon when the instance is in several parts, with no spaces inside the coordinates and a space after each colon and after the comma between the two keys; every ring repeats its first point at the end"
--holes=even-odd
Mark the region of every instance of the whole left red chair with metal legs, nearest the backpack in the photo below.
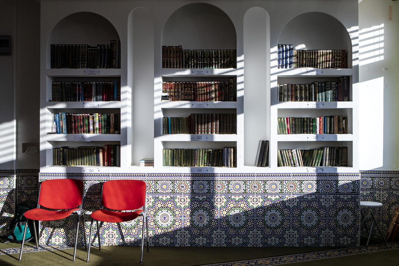
{"type": "MultiPolygon", "coordinates": [[[[35,233],[36,248],[39,248],[38,235],[36,234],[35,221],[54,221],[68,217],[69,215],[77,215],[77,226],[76,226],[76,237],[75,237],[75,249],[73,250],[73,261],[76,257],[76,244],[77,235],[79,232],[79,221],[80,216],[83,216],[83,235],[85,236],[85,248],[87,249],[86,234],[85,234],[85,216],[83,215],[82,209],[82,198],[83,198],[83,181],[77,179],[52,179],[41,182],[39,190],[39,201],[38,207],[26,211],[24,216],[26,217],[26,223],[28,219],[33,221],[33,228],[35,233]],[[40,209],[45,207],[47,209],[55,209],[57,211],[51,211],[47,209],[40,209]],[[65,210],[67,211],[59,211],[65,210]]],[[[20,251],[20,260],[22,256],[22,250],[24,249],[26,227],[24,229],[24,235],[22,238],[22,245],[20,251]]]]}

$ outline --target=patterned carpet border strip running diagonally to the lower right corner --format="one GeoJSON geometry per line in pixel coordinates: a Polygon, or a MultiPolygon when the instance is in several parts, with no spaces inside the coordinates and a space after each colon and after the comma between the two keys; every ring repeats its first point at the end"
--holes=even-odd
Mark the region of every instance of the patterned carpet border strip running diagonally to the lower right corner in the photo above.
{"type": "Polygon", "coordinates": [[[277,256],[270,258],[260,258],[255,260],[242,260],[237,262],[227,262],[219,264],[207,264],[204,266],[263,266],[263,265],[279,265],[294,262],[304,262],[311,260],[320,260],[325,258],[335,258],[342,256],[357,255],[369,252],[378,252],[384,250],[393,250],[399,248],[399,242],[393,242],[388,244],[375,244],[369,246],[357,246],[350,248],[340,248],[334,250],[323,250],[302,254],[293,254],[285,256],[277,256]]]}

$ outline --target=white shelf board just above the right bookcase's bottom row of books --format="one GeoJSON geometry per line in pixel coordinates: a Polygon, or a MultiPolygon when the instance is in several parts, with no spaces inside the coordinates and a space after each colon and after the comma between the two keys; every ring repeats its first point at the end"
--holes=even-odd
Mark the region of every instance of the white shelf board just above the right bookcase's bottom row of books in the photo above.
{"type": "Polygon", "coordinates": [[[353,141],[352,134],[278,134],[277,141],[353,141]]]}

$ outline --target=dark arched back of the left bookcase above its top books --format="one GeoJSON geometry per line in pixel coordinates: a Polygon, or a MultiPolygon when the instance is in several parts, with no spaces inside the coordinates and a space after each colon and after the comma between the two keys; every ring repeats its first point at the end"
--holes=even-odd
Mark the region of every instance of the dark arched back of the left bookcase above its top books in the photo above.
{"type": "Polygon", "coordinates": [[[93,12],[77,12],[61,19],[47,39],[47,68],[50,68],[51,44],[109,44],[119,40],[115,27],[103,16],[93,12]]]}

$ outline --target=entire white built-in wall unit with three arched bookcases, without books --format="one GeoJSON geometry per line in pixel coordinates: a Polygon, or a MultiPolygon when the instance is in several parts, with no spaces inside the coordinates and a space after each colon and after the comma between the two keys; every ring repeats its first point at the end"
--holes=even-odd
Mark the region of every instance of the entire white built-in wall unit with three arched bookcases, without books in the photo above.
{"type": "MultiPolygon", "coordinates": [[[[324,172],[355,172],[358,169],[358,65],[356,16],[350,9],[357,3],[314,2],[317,12],[306,12],[302,4],[271,1],[256,4],[240,2],[239,8],[225,2],[156,1],[41,2],[41,160],[42,172],[80,172],[85,167],[53,167],[50,152],[54,146],[79,146],[73,136],[47,135],[51,114],[63,110],[116,112],[121,114],[119,136],[89,136],[92,144],[121,145],[121,166],[104,167],[104,172],[192,173],[193,167],[162,166],[163,148],[237,147],[237,168],[213,167],[216,173],[307,172],[302,167],[277,167],[280,148],[316,148],[324,145],[348,146],[348,167],[327,167],[324,172]],[[59,8],[58,6],[59,5],[59,8]],[[255,7],[256,6],[256,7],[255,7]],[[284,16],[280,16],[284,7],[284,16]],[[338,6],[340,8],[334,8],[338,6]],[[343,10],[342,6],[348,7],[343,10]],[[54,13],[55,9],[57,11],[54,13]],[[90,10],[91,12],[87,12],[90,10]],[[83,27],[82,27],[83,25],[83,27]],[[99,31],[98,29],[101,29],[99,31]],[[99,33],[100,32],[100,33],[99,33]],[[317,36],[317,37],[315,37],[317,36]],[[96,45],[120,40],[120,69],[51,69],[51,44],[96,45]],[[293,44],[294,49],[345,49],[346,69],[277,68],[277,45],[293,44]],[[182,45],[183,49],[235,49],[237,68],[162,68],[162,46],[182,45]],[[245,56],[244,56],[245,55],[245,56]],[[93,71],[94,72],[91,72],[93,71]],[[98,72],[96,72],[98,71],[98,72]],[[332,81],[349,76],[350,102],[278,102],[279,83],[303,84],[332,81]],[[233,102],[161,101],[162,82],[237,80],[237,100],[233,102]],[[49,102],[53,81],[120,81],[121,101],[49,102]],[[198,105],[200,104],[200,105],[198,105]],[[205,104],[205,105],[204,105],[205,104]],[[162,117],[183,117],[191,113],[237,114],[237,134],[205,135],[205,141],[190,134],[162,134],[162,117]],[[277,117],[321,115],[348,116],[349,134],[279,135],[277,117]],[[269,166],[255,167],[259,140],[269,140],[269,166]],[[154,158],[154,167],[137,167],[142,158],[154,158]]],[[[87,143],[86,143],[87,144],[87,143]]],[[[319,171],[319,169],[309,169],[319,171]]]]}

